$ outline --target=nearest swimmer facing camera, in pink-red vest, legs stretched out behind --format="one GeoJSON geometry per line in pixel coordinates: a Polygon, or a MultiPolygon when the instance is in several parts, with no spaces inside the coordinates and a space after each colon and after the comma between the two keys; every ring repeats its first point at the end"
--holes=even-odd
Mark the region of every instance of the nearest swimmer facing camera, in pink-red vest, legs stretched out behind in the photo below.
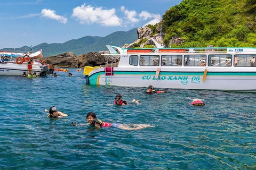
{"type": "Polygon", "coordinates": [[[89,112],[86,115],[87,122],[86,124],[76,124],[76,122],[71,122],[71,125],[73,126],[79,126],[79,125],[91,125],[97,129],[100,128],[119,128],[123,130],[139,130],[143,128],[148,127],[154,127],[153,125],[148,124],[118,124],[118,123],[109,123],[109,122],[102,122],[97,118],[94,112],[89,112]]]}

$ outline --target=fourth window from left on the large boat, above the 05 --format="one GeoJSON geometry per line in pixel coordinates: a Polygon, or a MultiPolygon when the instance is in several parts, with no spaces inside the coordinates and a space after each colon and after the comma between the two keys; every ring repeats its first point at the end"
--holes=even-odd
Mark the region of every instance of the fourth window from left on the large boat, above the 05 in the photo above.
{"type": "Polygon", "coordinates": [[[205,66],[206,55],[185,55],[185,66],[205,66]]]}

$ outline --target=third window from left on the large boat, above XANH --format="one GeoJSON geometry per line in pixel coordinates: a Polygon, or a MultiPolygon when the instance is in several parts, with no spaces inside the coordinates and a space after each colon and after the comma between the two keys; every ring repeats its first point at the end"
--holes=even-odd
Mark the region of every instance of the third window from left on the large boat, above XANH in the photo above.
{"type": "Polygon", "coordinates": [[[181,66],[182,55],[162,55],[163,66],[181,66]]]}

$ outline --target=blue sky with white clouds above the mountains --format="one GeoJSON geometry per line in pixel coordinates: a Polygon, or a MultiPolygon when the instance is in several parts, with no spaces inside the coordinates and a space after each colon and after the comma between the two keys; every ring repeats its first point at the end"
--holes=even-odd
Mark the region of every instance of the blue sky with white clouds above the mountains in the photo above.
{"type": "Polygon", "coordinates": [[[0,49],[105,37],[158,23],[182,0],[0,0],[0,49]]]}

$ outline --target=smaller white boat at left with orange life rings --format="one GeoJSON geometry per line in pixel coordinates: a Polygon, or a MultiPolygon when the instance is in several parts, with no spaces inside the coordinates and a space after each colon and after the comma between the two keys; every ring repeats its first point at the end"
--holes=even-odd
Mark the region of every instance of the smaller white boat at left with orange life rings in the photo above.
{"type": "Polygon", "coordinates": [[[0,51],[0,75],[22,75],[23,72],[28,74],[27,63],[31,59],[31,74],[35,72],[37,75],[46,75],[47,65],[40,58],[43,58],[42,49],[28,53],[0,51]]]}

